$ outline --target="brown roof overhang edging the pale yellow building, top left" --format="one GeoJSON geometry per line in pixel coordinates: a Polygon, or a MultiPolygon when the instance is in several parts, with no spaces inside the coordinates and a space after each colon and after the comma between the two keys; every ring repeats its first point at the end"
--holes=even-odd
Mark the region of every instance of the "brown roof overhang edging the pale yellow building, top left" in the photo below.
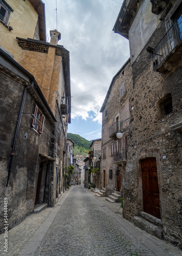
{"type": "Polygon", "coordinates": [[[45,29],[45,4],[41,0],[29,0],[38,14],[39,37],[41,41],[46,41],[45,29]]]}

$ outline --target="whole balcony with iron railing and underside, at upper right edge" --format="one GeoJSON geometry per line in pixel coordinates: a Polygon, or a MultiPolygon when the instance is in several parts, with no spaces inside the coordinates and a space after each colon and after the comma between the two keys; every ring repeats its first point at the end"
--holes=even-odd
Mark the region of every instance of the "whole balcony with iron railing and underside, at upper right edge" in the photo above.
{"type": "Polygon", "coordinates": [[[170,27],[165,36],[152,49],[147,48],[151,52],[154,70],[157,72],[171,71],[182,54],[182,18],[181,16],[170,27]],[[151,49],[151,50],[150,50],[151,49]]]}

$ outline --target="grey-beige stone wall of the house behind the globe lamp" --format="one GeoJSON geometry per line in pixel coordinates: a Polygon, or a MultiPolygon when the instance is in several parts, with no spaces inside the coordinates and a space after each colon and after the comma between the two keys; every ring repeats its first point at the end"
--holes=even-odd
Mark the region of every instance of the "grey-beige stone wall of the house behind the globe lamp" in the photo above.
{"type": "MultiPolygon", "coordinates": [[[[113,81],[112,88],[107,99],[105,108],[102,114],[102,163],[101,163],[101,179],[103,186],[103,170],[106,172],[106,195],[110,195],[117,187],[117,170],[124,174],[124,169],[121,166],[113,163],[113,155],[111,155],[111,144],[113,143],[113,151],[116,151],[116,141],[119,142],[119,149],[123,146],[122,139],[117,139],[116,136],[109,138],[109,128],[116,122],[116,117],[119,116],[119,121],[129,118],[129,101],[128,91],[131,87],[131,67],[128,63],[126,67],[121,70],[113,81]],[[125,82],[126,94],[121,98],[121,86],[125,82]],[[107,117],[105,118],[105,110],[107,109],[107,117]],[[103,150],[106,149],[106,158],[103,158],[103,150]],[[112,169],[112,178],[109,178],[109,169],[112,169]]],[[[123,138],[124,139],[124,138],[123,138]]],[[[121,183],[123,176],[121,176],[121,183]]]]}

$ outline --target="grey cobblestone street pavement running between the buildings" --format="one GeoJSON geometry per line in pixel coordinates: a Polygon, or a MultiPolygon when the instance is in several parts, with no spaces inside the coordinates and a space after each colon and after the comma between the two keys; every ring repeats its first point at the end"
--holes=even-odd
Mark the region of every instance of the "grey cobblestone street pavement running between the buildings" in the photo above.
{"type": "Polygon", "coordinates": [[[96,198],[81,186],[9,230],[8,239],[9,255],[182,255],[124,220],[120,203],[96,198]]]}

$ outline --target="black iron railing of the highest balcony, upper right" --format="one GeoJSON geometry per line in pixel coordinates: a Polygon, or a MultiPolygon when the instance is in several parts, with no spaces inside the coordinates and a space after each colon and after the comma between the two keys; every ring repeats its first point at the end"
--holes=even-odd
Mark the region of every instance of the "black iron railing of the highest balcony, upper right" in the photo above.
{"type": "Polygon", "coordinates": [[[170,27],[157,46],[151,51],[152,61],[155,69],[171,53],[171,51],[179,44],[181,40],[182,22],[178,19],[170,27]]]}

